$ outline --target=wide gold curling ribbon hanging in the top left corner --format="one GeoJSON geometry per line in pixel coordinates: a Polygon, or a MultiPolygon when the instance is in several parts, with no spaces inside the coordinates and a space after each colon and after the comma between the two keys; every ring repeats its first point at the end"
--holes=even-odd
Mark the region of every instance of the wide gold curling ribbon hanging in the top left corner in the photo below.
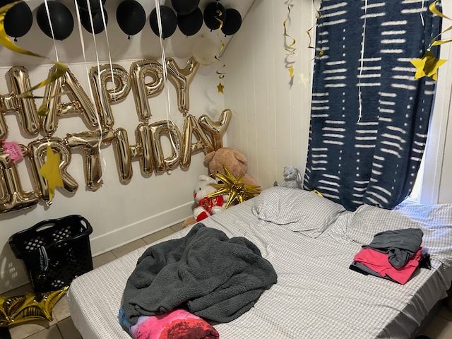
{"type": "MultiPolygon", "coordinates": [[[[18,4],[19,2],[22,2],[22,1],[11,2],[11,4],[6,4],[5,6],[0,7],[0,43],[4,47],[6,47],[7,49],[10,49],[13,52],[30,55],[32,57],[49,59],[48,57],[43,57],[40,54],[36,54],[36,53],[28,51],[27,49],[23,49],[22,47],[19,47],[17,44],[15,44],[14,42],[11,41],[11,39],[8,37],[8,35],[6,35],[5,25],[4,25],[6,13],[8,13],[8,11],[13,6],[16,6],[16,4],[18,4]]],[[[50,60],[52,60],[52,59],[50,59],[50,60]]],[[[52,60],[52,61],[57,66],[57,69],[55,70],[55,72],[51,76],[49,76],[47,79],[45,79],[44,81],[41,81],[37,85],[30,88],[30,90],[27,90],[24,93],[20,93],[20,95],[18,95],[18,97],[20,97],[20,98],[32,97],[32,95],[29,95],[28,93],[31,93],[33,90],[36,90],[37,88],[41,88],[42,86],[52,83],[52,81],[57,80],[58,78],[63,76],[64,73],[66,73],[66,71],[69,70],[69,67],[66,64],[63,64],[63,63],[61,63],[59,61],[55,61],[55,60],[52,60]]],[[[41,116],[46,115],[48,113],[48,111],[47,111],[47,109],[45,109],[44,105],[45,105],[45,102],[40,106],[40,108],[37,111],[37,113],[40,114],[41,116]]]]}

